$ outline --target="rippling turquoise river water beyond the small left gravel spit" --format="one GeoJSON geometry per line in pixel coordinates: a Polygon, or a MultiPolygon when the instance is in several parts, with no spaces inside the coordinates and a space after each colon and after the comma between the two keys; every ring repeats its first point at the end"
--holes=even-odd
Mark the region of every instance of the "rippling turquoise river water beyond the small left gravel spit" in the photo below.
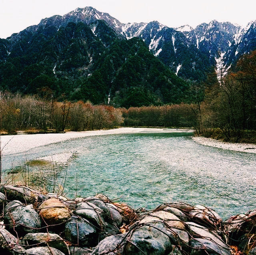
{"type": "MultiPolygon", "coordinates": [[[[65,191],[103,193],[135,208],[164,202],[204,204],[222,217],[255,208],[256,155],[202,146],[190,133],[90,136],[5,156],[4,168],[26,159],[76,152],[65,191]]],[[[62,172],[64,174],[64,171],[62,172]]],[[[62,178],[62,176],[60,176],[62,178]]]]}

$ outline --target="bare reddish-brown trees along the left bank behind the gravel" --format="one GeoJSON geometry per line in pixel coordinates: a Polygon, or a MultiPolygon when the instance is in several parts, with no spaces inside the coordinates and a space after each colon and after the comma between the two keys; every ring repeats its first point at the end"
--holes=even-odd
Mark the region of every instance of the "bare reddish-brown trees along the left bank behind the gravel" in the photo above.
{"type": "Polygon", "coordinates": [[[0,92],[0,129],[8,133],[30,129],[63,132],[114,128],[122,121],[122,112],[112,106],[0,92]]]}

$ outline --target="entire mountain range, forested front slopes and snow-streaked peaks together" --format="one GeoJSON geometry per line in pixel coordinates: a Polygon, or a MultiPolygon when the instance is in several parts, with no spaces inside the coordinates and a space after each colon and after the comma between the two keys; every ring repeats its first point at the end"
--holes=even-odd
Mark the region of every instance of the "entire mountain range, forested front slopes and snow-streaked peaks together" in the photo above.
{"type": "Polygon", "coordinates": [[[126,107],[135,92],[142,104],[177,103],[191,81],[206,80],[214,69],[225,73],[255,48],[256,22],[168,28],[157,21],[122,24],[92,7],[77,8],[0,39],[0,87],[36,93],[46,86],[126,107]]]}

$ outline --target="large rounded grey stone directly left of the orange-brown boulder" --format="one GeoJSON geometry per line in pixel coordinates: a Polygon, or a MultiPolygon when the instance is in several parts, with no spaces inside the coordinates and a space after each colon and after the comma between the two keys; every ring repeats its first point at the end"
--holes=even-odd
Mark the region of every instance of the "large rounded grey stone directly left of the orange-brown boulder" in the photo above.
{"type": "Polygon", "coordinates": [[[20,201],[14,200],[4,207],[4,223],[6,227],[19,235],[35,233],[41,227],[41,219],[34,210],[33,205],[24,206],[20,201]]]}

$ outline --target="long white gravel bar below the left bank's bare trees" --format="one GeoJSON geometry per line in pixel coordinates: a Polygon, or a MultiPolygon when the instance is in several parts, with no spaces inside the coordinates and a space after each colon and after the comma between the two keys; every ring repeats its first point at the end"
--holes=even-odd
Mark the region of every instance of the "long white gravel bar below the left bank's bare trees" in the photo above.
{"type": "Polygon", "coordinates": [[[109,130],[93,130],[82,132],[66,132],[63,134],[16,134],[1,136],[2,155],[28,151],[32,148],[62,142],[69,139],[98,136],[106,134],[132,134],[140,132],[193,132],[193,130],[167,128],[116,128],[109,130]]]}

